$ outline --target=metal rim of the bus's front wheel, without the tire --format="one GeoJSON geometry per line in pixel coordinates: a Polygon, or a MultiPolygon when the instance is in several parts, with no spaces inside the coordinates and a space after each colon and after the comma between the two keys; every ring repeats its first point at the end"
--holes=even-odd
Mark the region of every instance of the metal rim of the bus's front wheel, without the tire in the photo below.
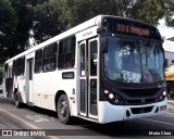
{"type": "Polygon", "coordinates": [[[67,115],[67,102],[62,100],[59,105],[59,113],[64,118],[67,115]]]}

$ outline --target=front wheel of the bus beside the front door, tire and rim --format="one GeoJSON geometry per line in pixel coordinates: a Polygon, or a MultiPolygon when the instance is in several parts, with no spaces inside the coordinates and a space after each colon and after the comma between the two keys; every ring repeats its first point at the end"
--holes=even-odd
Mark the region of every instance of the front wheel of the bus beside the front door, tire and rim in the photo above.
{"type": "Polygon", "coordinates": [[[61,94],[58,100],[58,108],[57,108],[58,118],[63,124],[70,124],[71,122],[71,112],[70,112],[70,104],[66,94],[61,94]]]}

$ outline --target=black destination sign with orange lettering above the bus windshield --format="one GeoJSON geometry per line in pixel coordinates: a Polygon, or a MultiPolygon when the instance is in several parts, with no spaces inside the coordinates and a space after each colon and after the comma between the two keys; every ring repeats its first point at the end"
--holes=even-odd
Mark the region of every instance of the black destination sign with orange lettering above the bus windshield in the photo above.
{"type": "Polygon", "coordinates": [[[126,18],[116,18],[116,17],[105,17],[103,20],[103,26],[105,26],[109,31],[108,34],[126,34],[133,36],[142,36],[146,38],[161,40],[161,35],[159,30],[148,24],[142,22],[126,20],[126,18]]]}

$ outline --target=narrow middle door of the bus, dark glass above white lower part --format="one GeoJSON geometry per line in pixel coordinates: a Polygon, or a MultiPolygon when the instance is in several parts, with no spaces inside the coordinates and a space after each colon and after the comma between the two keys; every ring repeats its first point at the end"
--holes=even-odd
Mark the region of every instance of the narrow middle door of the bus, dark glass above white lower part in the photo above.
{"type": "Polygon", "coordinates": [[[26,61],[26,102],[33,103],[33,66],[34,66],[34,59],[28,59],[26,61]]]}

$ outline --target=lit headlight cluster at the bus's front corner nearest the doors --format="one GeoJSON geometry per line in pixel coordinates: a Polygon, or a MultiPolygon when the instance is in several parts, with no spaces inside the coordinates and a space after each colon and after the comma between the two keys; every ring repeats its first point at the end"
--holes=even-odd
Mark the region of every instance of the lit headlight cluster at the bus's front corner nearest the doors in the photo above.
{"type": "Polygon", "coordinates": [[[111,104],[124,104],[123,100],[115,93],[109,90],[103,90],[104,97],[111,104]]]}

